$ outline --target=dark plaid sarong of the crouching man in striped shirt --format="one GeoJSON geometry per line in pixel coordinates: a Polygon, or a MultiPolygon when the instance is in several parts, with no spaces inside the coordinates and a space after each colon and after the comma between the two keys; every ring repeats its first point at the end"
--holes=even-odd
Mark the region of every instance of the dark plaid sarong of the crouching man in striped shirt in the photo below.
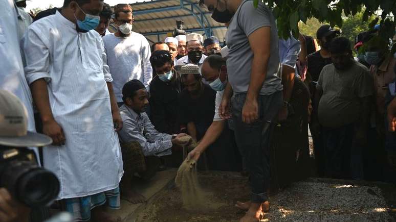
{"type": "Polygon", "coordinates": [[[121,153],[125,175],[132,176],[134,172],[146,171],[146,162],[142,147],[138,141],[121,144],[121,153]]]}

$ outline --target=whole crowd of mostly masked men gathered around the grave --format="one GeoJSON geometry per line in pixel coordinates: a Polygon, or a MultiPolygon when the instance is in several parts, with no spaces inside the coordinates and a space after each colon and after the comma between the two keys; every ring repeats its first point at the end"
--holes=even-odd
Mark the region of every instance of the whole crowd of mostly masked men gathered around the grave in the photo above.
{"type": "MultiPolygon", "coordinates": [[[[0,3],[0,89],[24,104],[26,131],[52,139],[31,149],[59,179],[53,207],[76,221],[119,221],[104,208],[145,202],[134,181],[179,167],[187,135],[199,169],[249,176],[250,200],[236,204],[243,222],[269,210],[271,189],[311,171],[395,180],[396,58],[378,26],[354,47],[327,24],[316,39],[279,39],[261,1],[200,0],[227,26],[224,47],[198,33],[150,45],[133,31],[129,4],[64,0],[31,15],[24,0],[0,3]]],[[[3,142],[6,133],[2,148],[20,146],[3,142]]],[[[0,202],[1,221],[28,221],[4,188],[0,202]]]]}

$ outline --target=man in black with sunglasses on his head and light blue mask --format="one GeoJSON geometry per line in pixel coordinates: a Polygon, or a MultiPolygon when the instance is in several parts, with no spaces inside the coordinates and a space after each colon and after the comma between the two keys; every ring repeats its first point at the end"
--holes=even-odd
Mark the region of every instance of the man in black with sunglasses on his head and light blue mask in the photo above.
{"type": "Polygon", "coordinates": [[[150,63],[157,73],[150,83],[151,122],[158,132],[178,134],[178,100],[182,90],[179,72],[174,70],[171,55],[165,50],[153,52],[150,63]]]}

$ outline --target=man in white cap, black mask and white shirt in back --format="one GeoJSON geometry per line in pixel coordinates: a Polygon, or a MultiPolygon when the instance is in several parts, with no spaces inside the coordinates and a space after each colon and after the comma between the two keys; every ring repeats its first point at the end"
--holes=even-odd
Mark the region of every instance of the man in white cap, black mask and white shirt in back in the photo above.
{"type": "Polygon", "coordinates": [[[202,42],[204,38],[200,34],[190,33],[186,36],[186,40],[187,56],[180,58],[176,65],[194,64],[201,69],[202,63],[207,57],[203,55],[204,47],[202,42]]]}

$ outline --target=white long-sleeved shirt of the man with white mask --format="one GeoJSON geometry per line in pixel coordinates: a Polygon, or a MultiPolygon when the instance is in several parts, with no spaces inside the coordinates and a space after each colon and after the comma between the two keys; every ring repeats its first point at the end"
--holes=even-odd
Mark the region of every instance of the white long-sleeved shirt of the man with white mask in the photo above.
{"type": "Polygon", "coordinates": [[[114,95],[117,102],[122,102],[122,87],[130,80],[139,80],[145,87],[152,80],[150,63],[150,44],[147,39],[136,32],[127,37],[117,37],[114,33],[103,36],[107,64],[114,82],[114,95]]]}

